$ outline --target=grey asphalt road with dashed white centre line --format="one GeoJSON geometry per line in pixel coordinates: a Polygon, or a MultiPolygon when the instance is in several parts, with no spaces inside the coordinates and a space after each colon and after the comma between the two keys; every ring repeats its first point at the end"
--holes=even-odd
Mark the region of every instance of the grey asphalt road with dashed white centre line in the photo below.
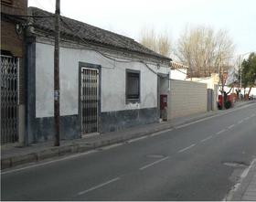
{"type": "Polygon", "coordinates": [[[2,200],[222,200],[256,157],[256,104],[1,174],[2,200]]]}

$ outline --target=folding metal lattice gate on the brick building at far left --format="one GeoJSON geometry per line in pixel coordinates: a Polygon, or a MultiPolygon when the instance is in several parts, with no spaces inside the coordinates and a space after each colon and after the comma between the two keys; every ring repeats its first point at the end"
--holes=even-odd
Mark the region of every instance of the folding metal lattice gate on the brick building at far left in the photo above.
{"type": "Polygon", "coordinates": [[[19,59],[1,56],[1,144],[18,141],[19,59]]]}

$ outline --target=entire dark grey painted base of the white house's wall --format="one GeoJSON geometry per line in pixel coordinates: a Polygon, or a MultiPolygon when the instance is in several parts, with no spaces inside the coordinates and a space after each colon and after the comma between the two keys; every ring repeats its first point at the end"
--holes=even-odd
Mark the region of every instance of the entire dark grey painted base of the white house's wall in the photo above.
{"type": "MultiPolygon", "coordinates": [[[[60,139],[71,140],[81,137],[80,116],[60,117],[60,139]]],[[[128,127],[158,122],[157,108],[126,110],[118,112],[101,112],[99,131],[108,133],[120,131],[128,127]]],[[[34,132],[29,133],[30,143],[42,143],[54,139],[54,117],[36,118],[34,132]]]]}

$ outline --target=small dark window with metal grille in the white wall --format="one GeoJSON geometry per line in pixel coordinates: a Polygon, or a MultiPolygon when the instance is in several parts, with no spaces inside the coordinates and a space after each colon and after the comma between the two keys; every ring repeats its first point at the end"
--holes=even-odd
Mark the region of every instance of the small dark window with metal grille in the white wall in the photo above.
{"type": "Polygon", "coordinates": [[[126,69],[126,103],[140,102],[140,71],[126,69]]]}

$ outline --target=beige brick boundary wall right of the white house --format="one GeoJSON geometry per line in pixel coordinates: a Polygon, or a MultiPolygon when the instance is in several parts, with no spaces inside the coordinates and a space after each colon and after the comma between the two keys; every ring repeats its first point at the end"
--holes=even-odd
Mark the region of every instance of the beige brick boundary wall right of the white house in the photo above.
{"type": "Polygon", "coordinates": [[[168,94],[168,120],[207,112],[207,84],[171,80],[168,94]]]}

